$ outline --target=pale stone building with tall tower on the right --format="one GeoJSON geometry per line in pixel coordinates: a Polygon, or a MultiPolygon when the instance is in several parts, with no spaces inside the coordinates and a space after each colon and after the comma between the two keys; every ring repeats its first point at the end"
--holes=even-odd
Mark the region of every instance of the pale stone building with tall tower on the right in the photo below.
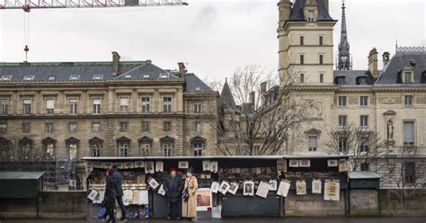
{"type": "MultiPolygon", "coordinates": [[[[384,52],[382,70],[377,69],[378,52],[372,49],[368,69],[352,70],[343,4],[338,70],[333,70],[333,26],[337,21],[328,13],[328,0],[280,0],[278,8],[281,83],[295,77],[297,84],[291,87],[289,97],[312,99],[320,105],[317,116],[306,117],[295,129],[286,152],[326,154],[329,132],[353,123],[384,141],[383,155],[364,168],[381,172],[385,186],[395,186],[392,175],[399,175],[404,186],[424,186],[425,48],[396,47],[392,58],[384,52]]],[[[339,138],[342,151],[346,145],[345,138],[339,138]]],[[[371,145],[364,146],[368,150],[371,145]]]]}

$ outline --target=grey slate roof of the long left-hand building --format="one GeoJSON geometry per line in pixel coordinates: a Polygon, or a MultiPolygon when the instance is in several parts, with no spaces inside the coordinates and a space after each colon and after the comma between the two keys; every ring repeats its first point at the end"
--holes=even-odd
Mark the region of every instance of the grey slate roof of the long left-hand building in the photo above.
{"type": "MultiPolygon", "coordinates": [[[[103,80],[140,80],[140,79],[178,79],[178,72],[170,72],[146,61],[120,61],[118,75],[113,73],[112,62],[38,62],[38,63],[0,63],[0,83],[11,82],[73,82],[103,80]],[[10,80],[2,80],[11,76],[10,80]],[[34,76],[24,80],[25,76],[34,76]],[[54,76],[54,80],[49,80],[54,76]],[[78,76],[78,80],[70,80],[78,76]],[[94,76],[102,76],[94,80],[94,76]]],[[[186,92],[211,92],[211,88],[192,73],[185,75],[186,92]]]]}

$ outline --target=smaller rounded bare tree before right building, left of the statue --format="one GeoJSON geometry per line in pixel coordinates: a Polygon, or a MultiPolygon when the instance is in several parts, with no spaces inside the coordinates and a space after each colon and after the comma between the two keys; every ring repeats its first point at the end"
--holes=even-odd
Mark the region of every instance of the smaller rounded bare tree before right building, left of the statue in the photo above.
{"type": "Polygon", "coordinates": [[[351,156],[351,171],[359,171],[362,164],[376,162],[377,158],[385,154],[380,149],[383,147],[383,140],[377,137],[376,132],[353,123],[333,129],[328,135],[329,140],[324,143],[328,147],[328,153],[351,156]]]}

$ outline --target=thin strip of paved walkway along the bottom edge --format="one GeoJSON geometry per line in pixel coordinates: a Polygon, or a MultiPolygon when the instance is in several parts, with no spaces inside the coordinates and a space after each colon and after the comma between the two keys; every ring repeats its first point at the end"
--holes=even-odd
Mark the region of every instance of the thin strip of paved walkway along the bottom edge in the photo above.
{"type": "MultiPolygon", "coordinates": [[[[90,222],[97,223],[102,222],[98,219],[88,219],[88,220],[35,220],[35,219],[0,219],[0,223],[78,223],[78,222],[90,222]]],[[[117,221],[120,222],[120,221],[117,221]]],[[[170,223],[170,222],[190,222],[184,220],[165,220],[165,219],[141,219],[141,220],[129,220],[129,223],[170,223]]],[[[283,223],[426,223],[426,217],[356,217],[356,218],[345,218],[345,217],[331,217],[331,218],[300,218],[300,217],[287,217],[287,218],[269,218],[269,219],[260,219],[260,218],[251,218],[251,219],[200,219],[198,222],[206,223],[271,223],[271,222],[283,222],[283,223]]]]}

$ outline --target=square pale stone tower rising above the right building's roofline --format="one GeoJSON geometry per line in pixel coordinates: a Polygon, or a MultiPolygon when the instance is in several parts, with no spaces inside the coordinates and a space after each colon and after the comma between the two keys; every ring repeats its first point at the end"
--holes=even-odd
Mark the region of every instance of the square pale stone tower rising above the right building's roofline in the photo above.
{"type": "Polygon", "coordinates": [[[328,0],[280,0],[280,85],[333,85],[333,26],[328,0]]]}

